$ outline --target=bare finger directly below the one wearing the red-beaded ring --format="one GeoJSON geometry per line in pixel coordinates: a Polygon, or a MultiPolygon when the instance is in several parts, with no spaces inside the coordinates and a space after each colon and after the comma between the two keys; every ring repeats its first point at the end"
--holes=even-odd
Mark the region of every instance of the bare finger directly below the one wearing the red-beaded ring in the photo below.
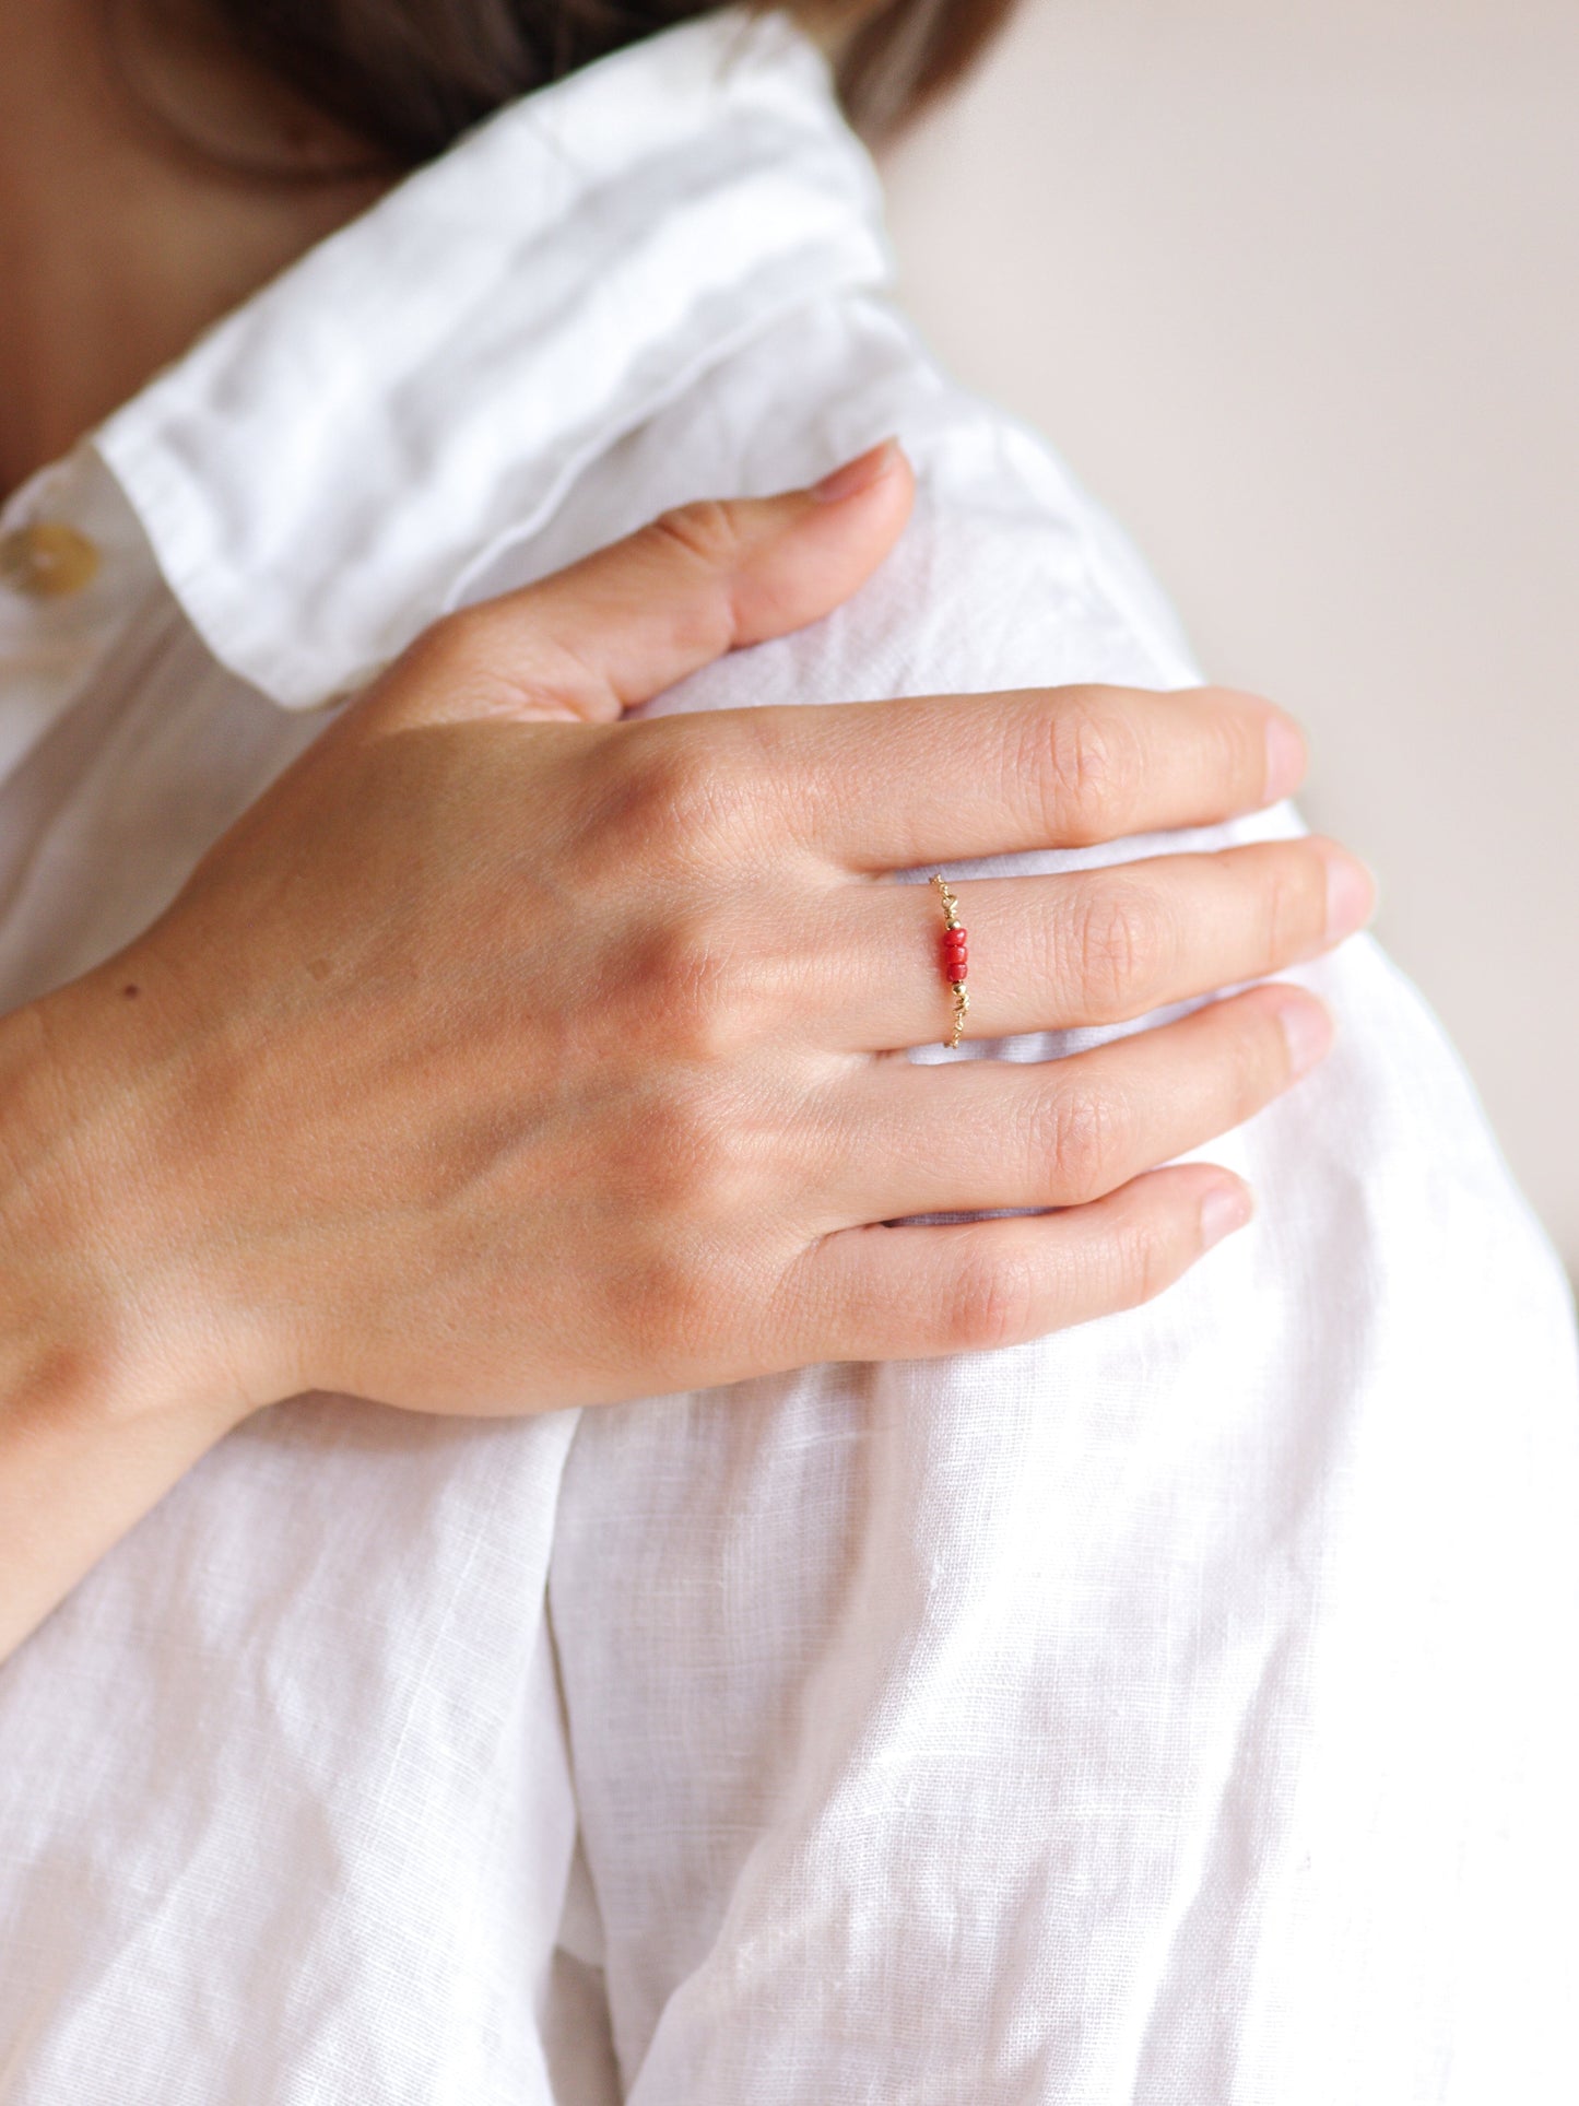
{"type": "Polygon", "coordinates": [[[1055,1061],[872,1066],[840,1093],[834,1219],[1080,1207],[1253,1118],[1331,1047],[1303,988],[1253,988],[1055,1061]]]}

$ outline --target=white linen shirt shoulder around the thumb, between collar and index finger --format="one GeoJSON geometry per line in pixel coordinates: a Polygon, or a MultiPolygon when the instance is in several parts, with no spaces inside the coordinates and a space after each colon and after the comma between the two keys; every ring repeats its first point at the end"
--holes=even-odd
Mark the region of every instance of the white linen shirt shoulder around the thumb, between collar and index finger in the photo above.
{"type": "Polygon", "coordinates": [[[960,388],[876,295],[781,316],[583,465],[528,541],[457,588],[476,598],[575,560],[669,505],[811,482],[876,438],[916,470],[882,571],[813,630],[684,682],[667,708],[857,701],[939,689],[1198,678],[1128,539],[1030,428],[960,388]]]}

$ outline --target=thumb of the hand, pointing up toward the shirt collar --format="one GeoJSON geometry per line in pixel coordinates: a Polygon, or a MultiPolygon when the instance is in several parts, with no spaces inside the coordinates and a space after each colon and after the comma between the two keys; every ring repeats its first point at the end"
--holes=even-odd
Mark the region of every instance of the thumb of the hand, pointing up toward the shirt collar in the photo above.
{"type": "Polygon", "coordinates": [[[554,577],[448,615],[417,647],[434,676],[394,682],[396,714],[402,724],[617,718],[726,651],[832,613],[895,545],[912,499],[910,463],[884,440],[808,491],[680,505],[554,577]]]}

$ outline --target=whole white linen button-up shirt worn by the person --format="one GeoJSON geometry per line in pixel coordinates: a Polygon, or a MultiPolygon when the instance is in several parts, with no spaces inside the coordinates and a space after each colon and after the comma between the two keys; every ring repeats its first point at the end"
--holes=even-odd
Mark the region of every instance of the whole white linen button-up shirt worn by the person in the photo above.
{"type": "MultiPolygon", "coordinates": [[[[886,276],[821,59],[726,15],[229,316],[0,520],[0,1000],[442,609],[886,432],[891,562],[659,708],[1192,680],[886,276]]],[[[1150,1308],[225,1441],[0,1668],[4,2106],[1579,2098],[1568,1299],[1400,975],[1305,977],[1337,1051],[1213,1150],[1259,1219],[1150,1308]]]]}

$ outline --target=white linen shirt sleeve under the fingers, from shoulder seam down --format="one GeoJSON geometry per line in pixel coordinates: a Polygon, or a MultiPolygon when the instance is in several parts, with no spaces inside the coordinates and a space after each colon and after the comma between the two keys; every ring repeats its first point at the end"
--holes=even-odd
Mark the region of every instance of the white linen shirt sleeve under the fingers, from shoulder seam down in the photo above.
{"type": "MultiPolygon", "coordinates": [[[[665,706],[1192,676],[1025,434],[907,440],[872,588],[665,706]]],[[[1301,977],[1337,1051],[1160,1302],[583,1413],[549,1611],[632,2106],[1564,2095],[1571,1306],[1408,984],[1301,977]]]]}

